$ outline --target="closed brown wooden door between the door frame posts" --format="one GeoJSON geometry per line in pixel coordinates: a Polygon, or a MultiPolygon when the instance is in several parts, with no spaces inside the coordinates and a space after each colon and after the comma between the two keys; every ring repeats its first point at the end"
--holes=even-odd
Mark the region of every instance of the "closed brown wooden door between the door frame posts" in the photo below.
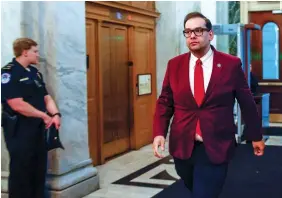
{"type": "Polygon", "coordinates": [[[103,23],[99,35],[103,163],[130,149],[128,30],[103,23]]]}

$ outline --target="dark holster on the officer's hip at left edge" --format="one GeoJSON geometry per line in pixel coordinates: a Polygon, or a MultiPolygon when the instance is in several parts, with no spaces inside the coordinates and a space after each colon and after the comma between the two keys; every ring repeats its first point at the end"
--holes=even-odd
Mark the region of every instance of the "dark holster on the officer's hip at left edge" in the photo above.
{"type": "Polygon", "coordinates": [[[4,138],[7,143],[10,138],[16,134],[16,126],[18,122],[17,115],[10,115],[8,112],[2,110],[2,127],[4,132],[4,138]]]}

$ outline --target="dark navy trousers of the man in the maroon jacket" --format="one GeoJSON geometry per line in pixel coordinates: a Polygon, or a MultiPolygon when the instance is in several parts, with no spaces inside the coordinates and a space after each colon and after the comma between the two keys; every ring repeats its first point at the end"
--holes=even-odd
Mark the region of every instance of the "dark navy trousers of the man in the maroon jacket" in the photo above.
{"type": "Polygon", "coordinates": [[[204,143],[195,141],[192,155],[182,160],[174,157],[175,169],[193,198],[218,198],[227,175],[228,163],[213,164],[204,143]]]}

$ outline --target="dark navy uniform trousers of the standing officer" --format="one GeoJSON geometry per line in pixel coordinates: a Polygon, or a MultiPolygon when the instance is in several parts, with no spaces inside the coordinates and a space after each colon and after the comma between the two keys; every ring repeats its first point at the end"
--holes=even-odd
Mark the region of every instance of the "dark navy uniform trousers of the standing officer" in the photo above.
{"type": "Polygon", "coordinates": [[[10,155],[9,198],[44,198],[47,149],[42,125],[20,123],[6,143],[10,155]]]}

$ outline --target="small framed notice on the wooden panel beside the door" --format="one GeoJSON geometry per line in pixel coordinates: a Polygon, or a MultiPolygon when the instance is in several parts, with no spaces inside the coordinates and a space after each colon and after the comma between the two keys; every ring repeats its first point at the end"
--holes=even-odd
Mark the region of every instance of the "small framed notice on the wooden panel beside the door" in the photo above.
{"type": "Polygon", "coordinates": [[[138,74],[138,96],[152,94],[152,75],[138,74]]]}

